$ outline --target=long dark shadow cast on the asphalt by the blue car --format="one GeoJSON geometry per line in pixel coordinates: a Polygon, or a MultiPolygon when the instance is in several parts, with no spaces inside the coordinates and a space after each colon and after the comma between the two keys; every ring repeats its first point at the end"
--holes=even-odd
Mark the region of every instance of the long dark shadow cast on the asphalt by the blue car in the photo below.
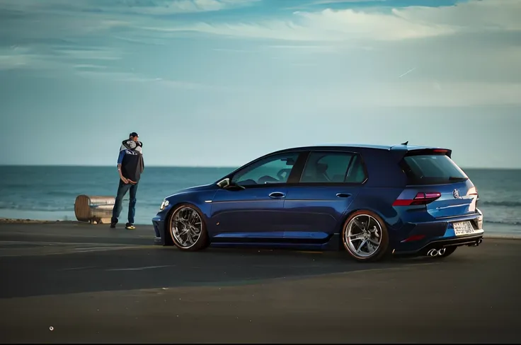
{"type": "Polygon", "coordinates": [[[391,269],[424,258],[356,262],[346,252],[143,247],[63,255],[3,258],[0,298],[181,286],[244,285],[370,269],[391,269]]]}

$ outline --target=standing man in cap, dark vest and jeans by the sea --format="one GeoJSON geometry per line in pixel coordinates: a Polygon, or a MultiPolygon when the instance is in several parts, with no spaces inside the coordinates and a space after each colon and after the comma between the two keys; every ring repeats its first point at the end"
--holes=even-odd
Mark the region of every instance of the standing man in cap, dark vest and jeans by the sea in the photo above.
{"type": "Polygon", "coordinates": [[[128,223],[125,228],[133,230],[134,215],[136,214],[136,192],[139,178],[144,170],[143,144],[138,140],[139,136],[135,131],[130,133],[129,139],[124,140],[120,147],[118,156],[118,172],[120,174],[120,185],[118,194],[112,211],[110,228],[115,228],[122,210],[122,201],[125,194],[130,190],[130,201],[128,203],[128,223]]]}

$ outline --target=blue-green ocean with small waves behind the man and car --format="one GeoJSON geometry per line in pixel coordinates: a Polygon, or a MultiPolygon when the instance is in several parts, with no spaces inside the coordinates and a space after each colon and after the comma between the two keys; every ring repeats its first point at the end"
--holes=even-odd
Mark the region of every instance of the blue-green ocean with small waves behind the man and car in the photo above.
{"type": "MultiPolygon", "coordinates": [[[[147,167],[137,191],[136,224],[151,224],[164,197],[211,183],[234,168],[147,167]]],[[[479,190],[487,233],[521,235],[521,170],[464,169],[479,190]]],[[[115,196],[115,167],[0,166],[0,218],[76,220],[79,194],[115,196]]],[[[120,222],[126,221],[128,194],[120,222]]]]}

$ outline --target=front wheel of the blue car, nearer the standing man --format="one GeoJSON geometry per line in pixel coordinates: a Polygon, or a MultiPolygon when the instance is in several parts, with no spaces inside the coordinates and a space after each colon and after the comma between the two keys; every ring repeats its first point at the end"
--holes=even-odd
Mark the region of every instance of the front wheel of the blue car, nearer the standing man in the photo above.
{"type": "MultiPolygon", "coordinates": [[[[208,238],[208,232],[206,230],[206,223],[205,218],[202,216],[201,211],[197,209],[197,207],[191,205],[191,204],[179,204],[177,205],[173,211],[170,214],[170,217],[168,218],[168,233],[170,233],[170,237],[172,238],[173,244],[178,247],[179,250],[183,252],[195,252],[197,250],[203,250],[207,248],[210,245],[210,240],[208,238]],[[200,228],[199,235],[197,238],[194,235],[197,233],[197,231],[188,230],[188,227],[183,226],[183,224],[180,223],[179,218],[183,218],[183,221],[188,222],[188,220],[193,218],[193,227],[190,228],[200,228]],[[184,218],[187,219],[184,219],[184,218]],[[197,218],[198,217],[198,218],[197,218]],[[197,223],[200,223],[200,227],[197,225],[197,223]],[[177,230],[175,231],[174,225],[177,226],[177,230]],[[185,230],[188,230],[187,233],[184,233],[185,230]],[[190,234],[190,237],[188,237],[187,234],[190,234]],[[193,240],[195,238],[195,241],[192,242],[190,240],[193,240]]],[[[197,229],[198,230],[198,229],[197,229]]]]}

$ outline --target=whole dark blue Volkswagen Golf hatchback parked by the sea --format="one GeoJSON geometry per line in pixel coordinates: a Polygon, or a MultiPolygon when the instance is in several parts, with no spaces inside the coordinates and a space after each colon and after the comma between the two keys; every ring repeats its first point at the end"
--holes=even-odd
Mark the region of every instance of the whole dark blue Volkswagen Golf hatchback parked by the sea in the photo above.
{"type": "Polygon", "coordinates": [[[447,148],[289,148],[164,199],[156,244],[447,257],[483,240],[478,191],[447,148]]]}

